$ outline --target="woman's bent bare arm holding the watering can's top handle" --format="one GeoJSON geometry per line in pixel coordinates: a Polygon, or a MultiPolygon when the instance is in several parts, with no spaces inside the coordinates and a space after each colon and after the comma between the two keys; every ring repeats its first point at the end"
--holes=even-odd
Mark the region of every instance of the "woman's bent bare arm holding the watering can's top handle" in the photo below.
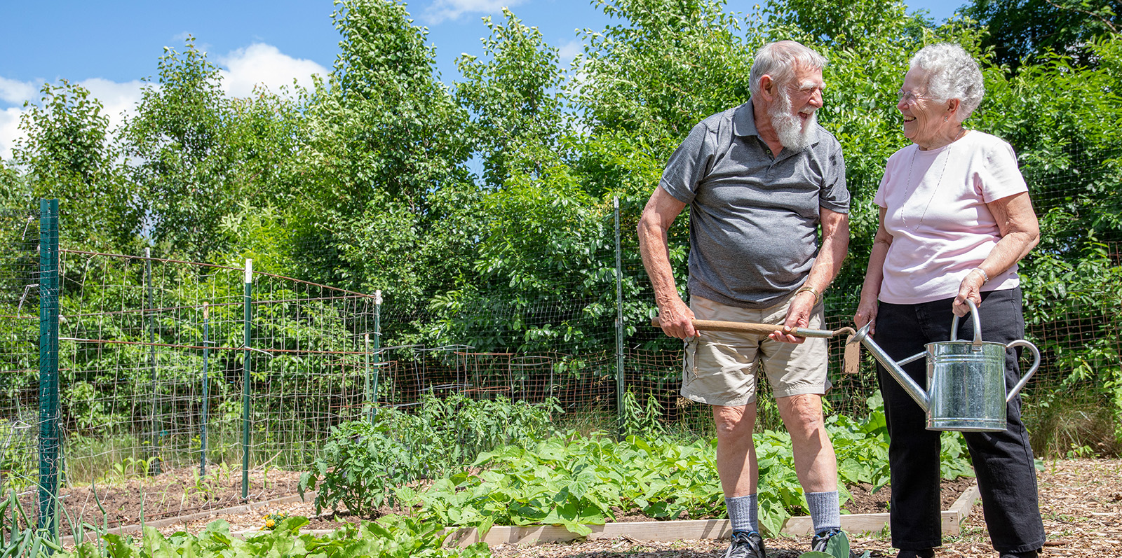
{"type": "Polygon", "coordinates": [[[974,304],[982,304],[982,286],[988,278],[1004,273],[1040,242],[1040,223],[1032,211],[1028,192],[994,199],[985,205],[997,221],[1001,240],[990,251],[990,255],[963,278],[953,306],[956,316],[965,316],[969,311],[967,298],[974,300],[974,304]]]}

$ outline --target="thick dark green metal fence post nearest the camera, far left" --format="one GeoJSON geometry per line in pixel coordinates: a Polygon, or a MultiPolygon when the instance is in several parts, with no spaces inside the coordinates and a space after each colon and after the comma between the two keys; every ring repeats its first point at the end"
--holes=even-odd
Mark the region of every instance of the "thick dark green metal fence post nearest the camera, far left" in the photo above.
{"type": "MultiPolygon", "coordinates": [[[[58,199],[39,199],[39,517],[58,534],[58,199]]],[[[12,523],[15,529],[15,523],[12,523]]]]}

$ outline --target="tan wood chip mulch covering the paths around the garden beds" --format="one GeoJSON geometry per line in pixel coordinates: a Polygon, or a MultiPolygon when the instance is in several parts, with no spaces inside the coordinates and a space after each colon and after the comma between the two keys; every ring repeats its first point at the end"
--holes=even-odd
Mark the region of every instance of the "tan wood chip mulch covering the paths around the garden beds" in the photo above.
{"type": "MultiPolygon", "coordinates": [[[[1038,473],[1040,512],[1048,542],[1042,558],[1122,558],[1122,459],[1058,459],[1038,473]]],[[[311,517],[311,504],[286,504],[273,512],[311,517]]],[[[231,531],[259,529],[263,513],[223,517],[231,531]]],[[[214,518],[168,526],[167,533],[200,531],[214,518]]],[[[314,522],[314,521],[313,521],[314,522]]],[[[871,551],[872,558],[894,557],[886,533],[850,533],[853,556],[871,551]]],[[[795,558],[809,549],[809,537],[765,541],[770,558],[795,558]]],[[[499,545],[497,558],[720,558],[727,542],[719,540],[649,542],[629,538],[534,546],[499,545]]],[[[990,546],[982,506],[976,504],[963,522],[963,532],[944,540],[937,557],[995,558],[990,546]]]]}

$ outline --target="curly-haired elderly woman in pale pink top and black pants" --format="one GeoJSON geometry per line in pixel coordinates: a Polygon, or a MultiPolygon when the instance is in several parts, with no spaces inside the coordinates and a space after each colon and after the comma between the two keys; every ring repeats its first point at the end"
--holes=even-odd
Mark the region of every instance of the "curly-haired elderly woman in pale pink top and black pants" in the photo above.
{"type": "MultiPolygon", "coordinates": [[[[977,63],[949,44],[917,53],[896,93],[912,145],[889,158],[874,197],[880,227],[854,316],[894,360],[950,340],[953,317],[969,311],[966,299],[978,306],[985,341],[1024,334],[1017,262],[1040,230],[1012,147],[963,128],[983,93],[977,63]]],[[[973,320],[962,322],[956,338],[973,338],[973,320]]],[[[926,384],[922,360],[903,369],[926,384]]],[[[900,558],[932,557],[941,545],[940,433],[926,429],[925,412],[883,366],[877,372],[891,437],[892,546],[900,558]]],[[[1010,350],[1005,381],[1013,385],[1019,376],[1010,350]]],[[[1045,532],[1019,397],[1006,415],[1005,431],[964,437],[994,549],[1002,558],[1036,557],[1045,532]]]]}

